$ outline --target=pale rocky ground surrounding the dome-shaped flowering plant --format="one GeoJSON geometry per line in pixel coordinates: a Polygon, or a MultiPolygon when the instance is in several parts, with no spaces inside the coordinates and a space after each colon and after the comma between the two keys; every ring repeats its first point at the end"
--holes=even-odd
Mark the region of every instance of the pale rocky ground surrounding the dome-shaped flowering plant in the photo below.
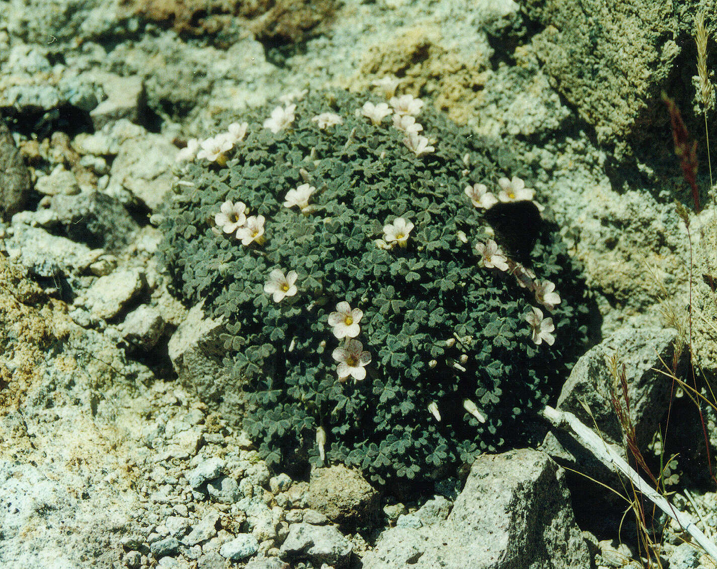
{"type": "MultiPolygon", "coordinates": [[[[592,424],[587,402],[621,443],[605,396],[617,351],[637,439],[659,452],[672,385],[654,368],[683,337],[690,250],[694,274],[713,267],[716,210],[691,214],[689,235],[675,214],[675,197],[690,202],[659,101],[676,92],[700,125],[685,71],[699,3],[583,4],[1,2],[0,565],[642,567],[634,517],[619,527],[625,503],[563,467],[619,482],[561,434],[481,456],[419,498],[340,465],[305,480],[270,472],[206,381],[186,379],[212,326],[170,295],[156,261],[179,145],[220,111],[328,85],[410,92],[531,166],[600,316],[559,405],[592,424]]],[[[695,278],[691,294],[709,378],[715,292],[695,278]]],[[[717,495],[688,403],[674,403],[670,452],[684,452],[670,490],[711,535],[717,495]]],[[[679,527],[654,523],[663,567],[714,566],[679,527]]]]}

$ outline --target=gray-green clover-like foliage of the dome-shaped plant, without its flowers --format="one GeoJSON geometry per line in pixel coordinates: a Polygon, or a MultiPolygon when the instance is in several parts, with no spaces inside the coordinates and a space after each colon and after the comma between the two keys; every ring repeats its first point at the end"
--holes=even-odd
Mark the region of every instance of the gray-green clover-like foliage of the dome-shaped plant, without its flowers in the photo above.
{"type": "Polygon", "coordinates": [[[242,118],[247,138],[226,168],[187,166],[183,178],[194,186],[174,196],[161,249],[181,297],[227,318],[224,363],[246,390],[243,426],[267,462],[318,462],[323,426],[328,462],[384,482],[427,477],[529,436],[524,417],[564,378],[584,339],[585,310],[576,272],[545,222],[525,262],[563,299],[552,313],[553,346],[531,340],[531,293],[477,265],[485,219],[463,188],[523,174],[506,148],[424,108],[417,121],[436,150],[416,157],[389,118],[374,126],[354,115],[365,100],[309,95],[293,128],[277,134],[262,128],[271,107],[242,118]],[[320,130],[311,118],[328,111],[343,125],[320,130]],[[282,205],[304,183],[302,169],[317,188],[308,215],[282,205]],[[265,216],[264,244],[244,247],[212,232],[209,220],[227,199],[265,216]],[[374,240],[397,216],[415,224],[409,246],[379,249],[374,240]],[[278,304],[263,290],[275,268],[299,274],[298,294],[278,304]],[[342,300],[364,311],[357,339],[372,363],[361,382],[337,381],[332,352],[343,340],[327,318],[342,300]],[[462,341],[449,347],[455,337],[462,341]],[[452,365],[462,354],[465,372],[452,365]],[[465,412],[464,398],[485,424],[465,412]],[[427,409],[434,401],[440,423],[427,409]]]}

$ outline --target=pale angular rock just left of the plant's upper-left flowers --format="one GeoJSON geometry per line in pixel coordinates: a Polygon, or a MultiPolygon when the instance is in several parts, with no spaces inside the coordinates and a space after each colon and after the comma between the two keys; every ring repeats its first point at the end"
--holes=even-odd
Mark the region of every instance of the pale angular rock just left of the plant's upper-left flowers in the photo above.
{"type": "Polygon", "coordinates": [[[161,135],[147,134],[120,144],[107,193],[127,190],[154,210],[172,185],[177,148],[161,135]]]}

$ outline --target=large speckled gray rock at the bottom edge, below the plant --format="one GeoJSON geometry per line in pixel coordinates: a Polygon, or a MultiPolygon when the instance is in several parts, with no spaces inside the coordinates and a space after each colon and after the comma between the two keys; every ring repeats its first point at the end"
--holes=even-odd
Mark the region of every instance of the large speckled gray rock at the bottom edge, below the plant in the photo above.
{"type": "Polygon", "coordinates": [[[562,478],[548,455],[532,449],[479,456],[445,521],[385,530],[364,566],[588,569],[562,478]]]}

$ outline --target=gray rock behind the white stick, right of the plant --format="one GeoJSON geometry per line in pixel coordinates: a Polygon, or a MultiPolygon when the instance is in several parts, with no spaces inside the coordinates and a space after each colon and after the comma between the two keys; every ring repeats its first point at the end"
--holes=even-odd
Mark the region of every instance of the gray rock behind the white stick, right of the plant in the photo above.
{"type": "MultiPolygon", "coordinates": [[[[578,360],[563,386],[557,408],[574,413],[586,425],[592,426],[595,421],[607,441],[625,448],[622,426],[610,401],[610,386],[614,380],[606,362],[606,358],[617,355],[619,368],[625,365],[637,445],[640,451],[645,451],[670,403],[670,381],[665,381],[665,376],[655,369],[662,365],[660,358],[665,363],[672,362],[676,335],[671,328],[622,327],[578,360]],[[581,403],[587,403],[590,413],[581,403]]],[[[622,396],[619,399],[622,401],[622,396]]],[[[569,437],[551,432],[546,436],[543,449],[573,466],[579,456],[584,468],[590,469],[589,474],[604,479],[602,467],[592,459],[583,459],[587,453],[569,437]]]]}

